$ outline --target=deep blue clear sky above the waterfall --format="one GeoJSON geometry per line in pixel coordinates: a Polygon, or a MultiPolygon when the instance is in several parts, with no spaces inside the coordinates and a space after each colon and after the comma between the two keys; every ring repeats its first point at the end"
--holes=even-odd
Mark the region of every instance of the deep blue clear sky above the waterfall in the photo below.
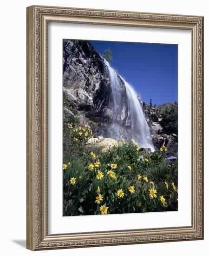
{"type": "Polygon", "coordinates": [[[110,48],[111,66],[146,103],[177,101],[177,45],[90,41],[100,55],[110,48]]]}

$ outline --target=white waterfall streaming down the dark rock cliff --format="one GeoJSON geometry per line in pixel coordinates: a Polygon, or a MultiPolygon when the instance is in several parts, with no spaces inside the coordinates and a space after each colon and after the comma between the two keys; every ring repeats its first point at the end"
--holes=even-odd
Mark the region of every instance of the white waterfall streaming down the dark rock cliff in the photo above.
{"type": "Polygon", "coordinates": [[[113,118],[118,121],[125,120],[125,127],[129,131],[129,136],[136,141],[140,148],[150,148],[155,150],[151,140],[150,128],[144,116],[141,102],[138,99],[134,88],[125,81],[104,59],[108,68],[111,82],[111,102],[110,108],[113,118]],[[125,88],[125,96],[124,95],[125,88]],[[125,102],[123,102],[125,101],[125,102]],[[126,115],[126,116],[125,116],[126,115]]]}

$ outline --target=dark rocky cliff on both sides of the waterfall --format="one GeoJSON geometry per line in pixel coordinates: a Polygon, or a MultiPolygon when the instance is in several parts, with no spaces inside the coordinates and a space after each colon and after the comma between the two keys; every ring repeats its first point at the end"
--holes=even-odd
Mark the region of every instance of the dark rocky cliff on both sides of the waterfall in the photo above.
{"type": "MultiPolygon", "coordinates": [[[[118,74],[117,74],[118,75],[118,74]]],[[[64,122],[76,116],[81,124],[90,124],[96,136],[117,139],[130,128],[124,81],[118,75],[121,98],[120,114],[114,116],[111,109],[111,82],[104,59],[84,40],[63,40],[63,91],[64,122]],[[115,123],[112,124],[112,120],[115,123]],[[114,125],[114,128],[112,127],[114,125]]],[[[162,115],[139,99],[150,126],[152,140],[157,148],[168,145],[170,155],[177,155],[177,136],[164,133],[162,115]]]]}

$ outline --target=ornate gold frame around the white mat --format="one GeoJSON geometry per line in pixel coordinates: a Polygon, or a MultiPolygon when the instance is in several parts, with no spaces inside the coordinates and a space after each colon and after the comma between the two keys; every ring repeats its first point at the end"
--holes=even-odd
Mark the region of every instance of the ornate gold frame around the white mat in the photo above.
{"type": "Polygon", "coordinates": [[[27,248],[61,249],[197,239],[203,239],[203,17],[65,7],[27,7],[27,248]],[[48,235],[48,21],[192,31],[191,226],[48,235]]]}

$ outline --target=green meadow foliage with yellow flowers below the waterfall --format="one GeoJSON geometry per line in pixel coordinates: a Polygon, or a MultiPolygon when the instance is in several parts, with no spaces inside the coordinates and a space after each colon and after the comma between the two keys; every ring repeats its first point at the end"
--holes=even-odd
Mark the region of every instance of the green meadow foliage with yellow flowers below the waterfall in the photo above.
{"type": "MultiPolygon", "coordinates": [[[[69,104],[67,108],[74,111],[69,104]]],[[[63,124],[64,216],[98,215],[104,204],[109,207],[108,214],[177,210],[178,194],[172,185],[177,186],[177,164],[164,161],[166,147],[162,146],[162,152],[145,153],[128,140],[104,150],[86,146],[93,133],[90,127],[78,125],[75,111],[74,119],[63,124]],[[104,175],[101,179],[98,172],[104,175]],[[130,186],[134,186],[134,193],[130,186]],[[123,197],[118,196],[119,189],[123,197]],[[156,197],[150,197],[150,189],[156,190],[156,197]],[[103,197],[99,203],[95,202],[98,191],[103,197]],[[164,205],[160,196],[166,201],[164,205]]]]}

